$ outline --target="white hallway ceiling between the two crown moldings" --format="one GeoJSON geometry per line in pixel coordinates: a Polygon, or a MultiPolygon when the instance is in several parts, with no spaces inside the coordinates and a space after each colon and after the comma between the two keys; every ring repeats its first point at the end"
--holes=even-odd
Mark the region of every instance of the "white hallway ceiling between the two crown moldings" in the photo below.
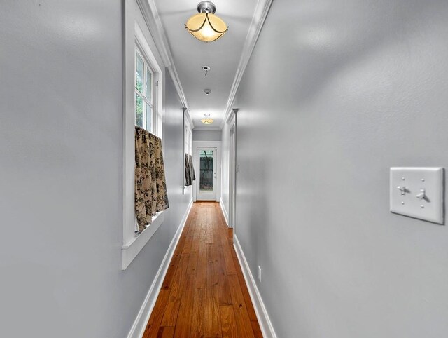
{"type": "Polygon", "coordinates": [[[195,128],[205,127],[200,121],[204,114],[215,120],[208,128],[220,128],[249,28],[260,24],[253,22],[258,0],[212,1],[229,30],[218,41],[204,43],[184,26],[197,13],[200,0],[155,0],[195,128]],[[207,76],[201,69],[204,65],[211,67],[207,76]],[[205,95],[206,88],[210,95],[205,95]]]}

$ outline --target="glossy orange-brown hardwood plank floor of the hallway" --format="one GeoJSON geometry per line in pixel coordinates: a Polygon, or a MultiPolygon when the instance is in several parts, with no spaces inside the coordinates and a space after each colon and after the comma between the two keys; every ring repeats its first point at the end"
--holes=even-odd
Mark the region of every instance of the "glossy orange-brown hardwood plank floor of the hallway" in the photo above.
{"type": "Polygon", "coordinates": [[[262,337],[219,203],[193,204],[146,325],[156,337],[262,337]]]}

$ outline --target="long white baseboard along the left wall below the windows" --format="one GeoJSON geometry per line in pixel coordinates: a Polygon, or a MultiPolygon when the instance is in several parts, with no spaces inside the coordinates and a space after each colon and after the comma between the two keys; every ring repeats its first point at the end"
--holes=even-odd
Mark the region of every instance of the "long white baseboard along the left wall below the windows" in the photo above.
{"type": "Polygon", "coordinates": [[[155,301],[157,300],[160,288],[162,288],[163,280],[165,279],[165,275],[168,271],[169,262],[171,262],[171,259],[174,255],[174,250],[176,250],[177,243],[179,243],[182,230],[185,227],[192,206],[193,201],[190,201],[190,203],[188,204],[188,208],[182,217],[181,224],[179,224],[179,228],[177,229],[176,234],[174,234],[174,237],[169,244],[169,248],[162,260],[162,264],[160,264],[159,271],[155,275],[153,284],[151,285],[151,288],[149,288],[148,294],[146,295],[145,300],[141,305],[139,314],[137,315],[137,318],[135,318],[134,324],[132,325],[129,334],[127,334],[127,338],[141,338],[145,332],[146,323],[148,323],[151,312],[154,309],[155,301]]]}

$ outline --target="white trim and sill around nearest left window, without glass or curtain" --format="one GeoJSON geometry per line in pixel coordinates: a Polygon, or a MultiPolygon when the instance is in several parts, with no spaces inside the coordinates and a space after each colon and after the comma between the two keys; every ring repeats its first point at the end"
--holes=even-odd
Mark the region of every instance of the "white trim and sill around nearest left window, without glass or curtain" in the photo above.
{"type": "Polygon", "coordinates": [[[122,252],[122,270],[131,264],[139,252],[144,248],[149,239],[155,234],[165,219],[165,212],[158,212],[153,217],[153,222],[140,234],[135,233],[135,191],[134,191],[134,172],[135,172],[135,123],[134,123],[134,101],[135,101],[135,48],[139,46],[140,51],[153,69],[154,83],[158,83],[155,88],[154,109],[153,109],[153,133],[162,138],[163,121],[163,72],[162,67],[155,58],[143,30],[137,22],[134,23],[134,32],[125,31],[125,72],[124,72],[124,95],[123,103],[123,245],[122,252]],[[132,60],[132,62],[130,62],[132,60]]]}

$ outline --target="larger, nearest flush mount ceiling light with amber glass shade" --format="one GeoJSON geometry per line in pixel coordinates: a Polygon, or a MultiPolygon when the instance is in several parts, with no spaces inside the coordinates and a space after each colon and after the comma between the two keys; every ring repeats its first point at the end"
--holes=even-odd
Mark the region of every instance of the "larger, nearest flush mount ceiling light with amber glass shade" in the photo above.
{"type": "Polygon", "coordinates": [[[204,42],[216,41],[229,30],[225,22],[215,15],[216,6],[211,1],[202,1],[197,5],[199,14],[188,19],[186,29],[196,39],[204,42]]]}

